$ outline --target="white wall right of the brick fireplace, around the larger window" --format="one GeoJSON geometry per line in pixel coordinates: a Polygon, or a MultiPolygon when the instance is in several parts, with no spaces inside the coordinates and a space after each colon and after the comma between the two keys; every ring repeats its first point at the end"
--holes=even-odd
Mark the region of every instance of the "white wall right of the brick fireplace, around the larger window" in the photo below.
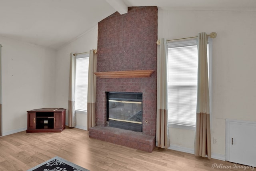
{"type": "MultiPolygon", "coordinates": [[[[216,32],[212,59],[212,153],[225,155],[225,119],[256,121],[256,12],[159,10],[158,38],[216,32]]],[[[194,131],[170,128],[171,145],[193,149],[194,131]],[[184,136],[187,134],[189,136],[184,136]],[[190,143],[188,143],[190,142],[190,143]]]]}

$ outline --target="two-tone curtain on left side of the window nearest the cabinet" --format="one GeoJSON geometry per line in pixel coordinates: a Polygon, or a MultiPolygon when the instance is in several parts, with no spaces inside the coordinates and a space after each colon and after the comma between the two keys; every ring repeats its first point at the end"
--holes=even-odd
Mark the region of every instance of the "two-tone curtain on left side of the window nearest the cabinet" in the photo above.
{"type": "Polygon", "coordinates": [[[76,126],[76,110],[75,110],[75,93],[76,93],[76,56],[70,53],[69,68],[69,88],[68,88],[68,126],[76,126]]]}

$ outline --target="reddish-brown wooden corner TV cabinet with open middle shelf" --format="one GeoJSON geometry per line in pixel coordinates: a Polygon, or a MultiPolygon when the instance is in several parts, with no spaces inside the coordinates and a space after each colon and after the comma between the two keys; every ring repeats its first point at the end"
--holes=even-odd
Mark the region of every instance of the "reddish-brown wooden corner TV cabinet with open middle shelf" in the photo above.
{"type": "Polygon", "coordinates": [[[66,109],[42,108],[27,112],[27,132],[62,132],[65,129],[66,109]]]}

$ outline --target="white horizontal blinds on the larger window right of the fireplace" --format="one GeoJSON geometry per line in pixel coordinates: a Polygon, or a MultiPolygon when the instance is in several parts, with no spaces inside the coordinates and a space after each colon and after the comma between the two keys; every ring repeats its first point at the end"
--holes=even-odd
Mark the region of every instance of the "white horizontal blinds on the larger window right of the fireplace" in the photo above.
{"type": "Polygon", "coordinates": [[[196,40],[168,42],[169,123],[196,124],[198,52],[196,40]]]}

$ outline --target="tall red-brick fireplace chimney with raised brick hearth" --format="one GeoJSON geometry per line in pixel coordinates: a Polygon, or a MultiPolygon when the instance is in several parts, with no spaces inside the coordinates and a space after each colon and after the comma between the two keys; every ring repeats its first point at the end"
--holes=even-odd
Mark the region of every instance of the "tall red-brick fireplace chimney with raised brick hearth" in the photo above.
{"type": "Polygon", "coordinates": [[[145,78],[97,77],[96,126],[89,136],[151,152],[156,136],[157,7],[128,7],[98,23],[97,72],[154,70],[145,78]],[[108,127],[106,93],[142,93],[142,132],[108,127]]]}

